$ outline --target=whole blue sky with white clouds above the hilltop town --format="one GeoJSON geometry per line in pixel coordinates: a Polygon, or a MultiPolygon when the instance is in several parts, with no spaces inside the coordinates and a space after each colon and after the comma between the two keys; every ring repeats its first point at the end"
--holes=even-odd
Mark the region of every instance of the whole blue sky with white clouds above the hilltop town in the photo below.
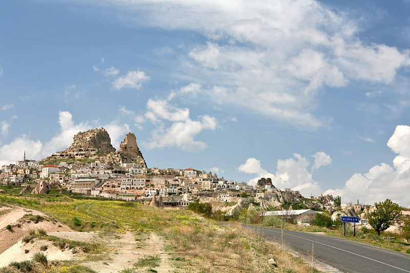
{"type": "Polygon", "coordinates": [[[149,167],[410,206],[410,3],[2,1],[0,164],[128,132],[149,167]]]}

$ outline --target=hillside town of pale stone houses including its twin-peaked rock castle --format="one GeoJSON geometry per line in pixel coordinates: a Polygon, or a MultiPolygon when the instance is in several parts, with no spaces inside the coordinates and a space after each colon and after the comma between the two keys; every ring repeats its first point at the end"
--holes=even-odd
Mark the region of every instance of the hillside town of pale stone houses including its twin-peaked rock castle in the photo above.
{"type": "Polygon", "coordinates": [[[227,215],[232,215],[236,207],[252,204],[261,211],[291,211],[298,215],[299,223],[309,223],[318,211],[326,210],[334,219],[342,213],[360,216],[362,224],[366,224],[374,208],[335,204],[332,195],[305,198],[291,188],[276,188],[270,178],[248,185],[192,167],[148,168],[133,133],[125,136],[116,151],[104,128],[77,133],[69,148],[43,160],[29,160],[24,152],[23,160],[2,166],[0,182],[22,187],[21,194],[46,194],[51,186],[57,186],[83,195],[156,207],[183,208],[200,200],[227,215]]]}

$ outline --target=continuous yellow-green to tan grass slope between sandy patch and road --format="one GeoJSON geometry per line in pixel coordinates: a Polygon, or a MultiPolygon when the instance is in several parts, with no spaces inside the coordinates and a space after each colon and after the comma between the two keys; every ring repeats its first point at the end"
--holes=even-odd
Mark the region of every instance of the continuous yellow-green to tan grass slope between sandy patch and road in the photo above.
{"type": "MultiPolygon", "coordinates": [[[[78,198],[65,192],[35,198],[1,195],[0,202],[38,209],[79,231],[93,230],[109,236],[130,230],[137,238],[156,233],[166,239],[166,249],[172,257],[169,262],[175,268],[174,272],[312,271],[311,266],[247,230],[226,229],[190,211],[73,197],[78,198]],[[276,260],[276,266],[268,262],[271,258],[276,260]]],[[[134,262],[138,264],[138,261],[134,262]]],[[[53,272],[47,267],[42,270],[53,272]]],[[[70,272],[75,272],[73,270],[70,272]]],[[[136,268],[127,270],[124,272],[133,272],[136,268]]]]}

